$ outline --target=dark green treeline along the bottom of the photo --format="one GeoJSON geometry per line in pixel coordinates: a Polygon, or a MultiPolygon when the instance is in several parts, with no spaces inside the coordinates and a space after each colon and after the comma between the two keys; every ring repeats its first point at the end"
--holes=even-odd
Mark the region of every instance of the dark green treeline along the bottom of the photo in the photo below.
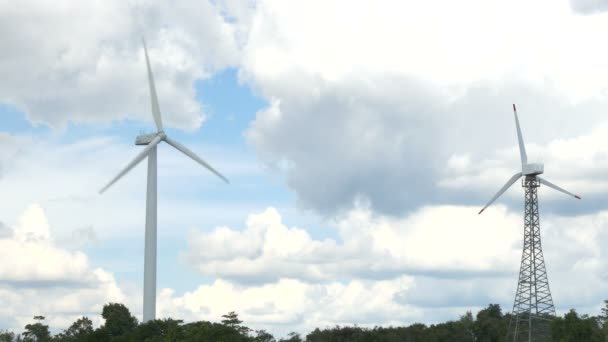
{"type": "MultiPolygon", "coordinates": [[[[579,315],[570,310],[551,323],[552,341],[603,342],[608,341],[608,301],[598,316],[579,315]]],[[[253,330],[235,312],[222,316],[221,323],[206,321],[184,323],[182,320],[163,319],[138,323],[122,304],[110,303],[103,307],[104,324],[98,328],[82,317],[61,333],[52,335],[43,316],[34,316],[24,331],[0,331],[0,342],[498,342],[507,334],[510,314],[503,314],[498,304],[490,304],[475,317],[467,312],[456,321],[440,324],[412,324],[407,327],[340,327],[315,329],[302,337],[292,332],[277,339],[265,330],[253,330]]]]}

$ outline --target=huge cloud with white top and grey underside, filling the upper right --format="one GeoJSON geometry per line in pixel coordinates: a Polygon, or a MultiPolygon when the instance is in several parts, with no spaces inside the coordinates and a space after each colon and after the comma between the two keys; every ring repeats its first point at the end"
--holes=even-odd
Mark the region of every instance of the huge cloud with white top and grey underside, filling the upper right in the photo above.
{"type": "Polygon", "coordinates": [[[583,136],[605,121],[608,49],[594,42],[607,24],[581,21],[567,1],[316,6],[261,2],[241,68],[270,103],[247,137],[304,208],[333,216],[363,198],[401,215],[483,201],[436,179],[455,153],[513,146],[513,102],[529,142],[583,136]],[[339,15],[346,6],[349,16],[339,15]]]}

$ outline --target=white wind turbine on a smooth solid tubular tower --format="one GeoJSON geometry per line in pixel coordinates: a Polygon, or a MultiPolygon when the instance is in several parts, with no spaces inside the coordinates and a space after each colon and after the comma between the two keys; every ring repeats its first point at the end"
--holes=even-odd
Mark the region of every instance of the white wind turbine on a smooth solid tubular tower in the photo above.
{"type": "Polygon", "coordinates": [[[148,50],[146,42],[142,39],[144,46],[144,54],[146,56],[146,66],[148,69],[148,83],[150,85],[150,101],[152,104],[152,116],[158,130],[153,134],[140,135],[135,139],[135,145],[145,145],[146,147],[133,159],[127,166],[120,171],[99,193],[104,193],[110,186],[116,183],[120,178],[127,174],[144,158],[148,157],[148,185],[146,193],[146,237],[144,251],[144,310],[143,321],[147,322],[156,317],[156,220],[157,220],[157,165],[156,165],[156,147],[161,141],[168,143],[178,151],[192,158],[195,162],[201,164],[209,171],[216,174],[218,177],[228,183],[228,179],[221,173],[215,170],[211,165],[197,156],[194,152],[186,148],[184,145],[169,138],[163,131],[163,121],[160,115],[158,106],[158,98],[156,96],[156,88],[154,86],[154,76],[150,68],[150,59],[148,58],[148,50]]]}

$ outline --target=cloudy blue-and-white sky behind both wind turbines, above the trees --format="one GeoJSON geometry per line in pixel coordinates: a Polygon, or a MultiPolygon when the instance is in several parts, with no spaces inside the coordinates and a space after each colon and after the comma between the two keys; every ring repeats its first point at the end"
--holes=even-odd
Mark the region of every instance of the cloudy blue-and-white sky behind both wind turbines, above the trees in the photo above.
{"type": "Polygon", "coordinates": [[[157,316],[276,336],[431,324],[498,303],[528,160],[558,314],[608,299],[608,6],[598,0],[0,1],[0,329],[105,303],[141,319],[155,131],[157,316]],[[581,291],[581,286],[585,291],[581,291]]]}

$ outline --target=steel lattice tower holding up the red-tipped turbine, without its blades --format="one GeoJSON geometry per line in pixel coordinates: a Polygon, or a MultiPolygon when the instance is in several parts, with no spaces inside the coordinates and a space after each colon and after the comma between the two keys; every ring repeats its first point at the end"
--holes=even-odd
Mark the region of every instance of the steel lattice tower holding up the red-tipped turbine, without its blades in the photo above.
{"type": "Polygon", "coordinates": [[[522,180],[525,189],[524,246],[519,269],[517,293],[507,332],[508,342],[548,341],[555,307],[549,289],[545,259],[540,240],[536,176],[522,180]]]}

